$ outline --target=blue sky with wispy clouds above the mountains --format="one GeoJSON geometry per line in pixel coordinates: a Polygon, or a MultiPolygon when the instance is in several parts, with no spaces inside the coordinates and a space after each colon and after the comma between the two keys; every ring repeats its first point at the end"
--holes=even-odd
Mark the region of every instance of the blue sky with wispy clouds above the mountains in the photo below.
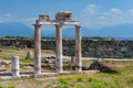
{"type": "Polygon", "coordinates": [[[133,23],[133,0],[0,0],[0,23],[20,22],[32,28],[39,14],[54,18],[71,11],[89,29],[133,23]]]}

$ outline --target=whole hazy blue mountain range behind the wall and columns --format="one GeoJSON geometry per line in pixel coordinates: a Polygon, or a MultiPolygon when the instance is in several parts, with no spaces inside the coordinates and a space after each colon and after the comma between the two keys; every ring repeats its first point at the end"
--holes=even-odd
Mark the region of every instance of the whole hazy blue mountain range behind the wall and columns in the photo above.
{"type": "MultiPolygon", "coordinates": [[[[81,29],[82,36],[102,36],[102,37],[114,37],[114,38],[130,38],[133,40],[133,24],[121,24],[116,26],[106,26],[102,29],[81,29]]],[[[74,37],[75,29],[72,28],[63,28],[62,31],[63,37],[74,37]]],[[[19,36],[33,36],[33,29],[22,24],[22,23],[0,23],[0,36],[6,35],[19,35],[19,36]]],[[[42,30],[42,36],[55,36],[55,29],[53,30],[42,30]]]]}

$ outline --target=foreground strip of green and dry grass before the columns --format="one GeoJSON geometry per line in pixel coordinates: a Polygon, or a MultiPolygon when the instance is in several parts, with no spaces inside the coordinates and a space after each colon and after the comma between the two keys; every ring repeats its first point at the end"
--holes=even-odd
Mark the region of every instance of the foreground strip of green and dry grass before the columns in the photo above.
{"type": "Polygon", "coordinates": [[[117,74],[96,73],[61,75],[44,78],[0,80],[3,88],[133,88],[133,66],[123,67],[117,74]]]}

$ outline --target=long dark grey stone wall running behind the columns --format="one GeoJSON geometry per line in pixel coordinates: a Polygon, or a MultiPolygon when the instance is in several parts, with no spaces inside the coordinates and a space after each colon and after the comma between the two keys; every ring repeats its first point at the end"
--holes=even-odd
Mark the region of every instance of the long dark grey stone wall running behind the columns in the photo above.
{"type": "MultiPolygon", "coordinates": [[[[42,48],[55,51],[55,41],[42,41],[42,48]]],[[[0,40],[0,46],[33,48],[33,40],[0,40]]],[[[74,40],[63,40],[63,54],[74,56],[74,40]]],[[[133,57],[133,41],[82,40],[84,57],[133,57]]]]}

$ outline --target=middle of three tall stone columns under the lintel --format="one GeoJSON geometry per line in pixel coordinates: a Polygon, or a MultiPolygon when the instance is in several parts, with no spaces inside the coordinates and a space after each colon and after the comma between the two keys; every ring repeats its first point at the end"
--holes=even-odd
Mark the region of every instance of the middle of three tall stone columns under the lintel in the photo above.
{"type": "Polygon", "coordinates": [[[61,25],[55,25],[55,32],[57,32],[57,51],[55,51],[57,72],[62,73],[63,65],[62,65],[62,29],[61,29],[61,25]]]}

